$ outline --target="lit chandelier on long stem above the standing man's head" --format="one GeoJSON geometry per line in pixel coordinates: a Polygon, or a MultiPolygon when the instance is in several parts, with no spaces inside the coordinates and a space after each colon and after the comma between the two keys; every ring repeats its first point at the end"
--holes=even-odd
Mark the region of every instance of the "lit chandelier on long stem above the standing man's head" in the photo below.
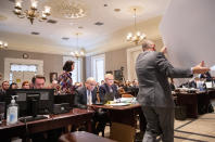
{"type": "Polygon", "coordinates": [[[135,42],[135,44],[137,46],[137,44],[139,44],[140,42],[143,41],[143,39],[147,37],[147,35],[137,30],[137,25],[136,25],[136,9],[134,9],[134,12],[135,12],[134,17],[135,17],[135,30],[136,30],[136,34],[129,33],[127,35],[127,41],[135,42]]]}

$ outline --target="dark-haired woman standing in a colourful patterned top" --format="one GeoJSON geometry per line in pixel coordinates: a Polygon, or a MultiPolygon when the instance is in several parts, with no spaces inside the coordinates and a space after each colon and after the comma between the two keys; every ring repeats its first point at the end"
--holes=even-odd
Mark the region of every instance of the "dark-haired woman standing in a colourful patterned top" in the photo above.
{"type": "Polygon", "coordinates": [[[74,93],[75,86],[73,86],[72,72],[75,67],[73,61],[66,61],[63,70],[64,73],[59,76],[59,83],[61,86],[61,93],[74,93]]]}

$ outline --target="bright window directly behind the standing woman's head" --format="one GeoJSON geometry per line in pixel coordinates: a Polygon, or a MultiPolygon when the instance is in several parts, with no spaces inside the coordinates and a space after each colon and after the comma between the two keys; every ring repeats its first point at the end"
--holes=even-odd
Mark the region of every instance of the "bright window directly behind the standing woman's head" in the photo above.
{"type": "Polygon", "coordinates": [[[72,56],[63,56],[63,65],[68,60],[75,62],[75,68],[73,70],[73,75],[72,75],[73,83],[80,82],[81,81],[81,67],[80,67],[81,66],[81,59],[75,59],[75,57],[72,57],[72,56]]]}

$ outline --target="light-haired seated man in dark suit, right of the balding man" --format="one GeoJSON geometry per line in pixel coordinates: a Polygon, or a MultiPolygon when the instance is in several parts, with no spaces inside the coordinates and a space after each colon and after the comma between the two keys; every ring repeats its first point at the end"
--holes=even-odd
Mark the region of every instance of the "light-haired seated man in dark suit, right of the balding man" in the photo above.
{"type": "Polygon", "coordinates": [[[105,95],[112,95],[114,99],[119,98],[112,74],[104,75],[104,83],[99,88],[99,96],[101,102],[105,101],[105,95]]]}

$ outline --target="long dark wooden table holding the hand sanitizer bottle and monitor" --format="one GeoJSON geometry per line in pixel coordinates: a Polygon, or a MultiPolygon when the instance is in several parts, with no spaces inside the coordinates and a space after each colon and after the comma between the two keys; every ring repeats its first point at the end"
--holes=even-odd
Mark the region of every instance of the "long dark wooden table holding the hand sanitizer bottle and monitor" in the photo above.
{"type": "Polygon", "coordinates": [[[84,121],[86,121],[87,131],[91,132],[91,118],[93,113],[93,111],[73,108],[69,113],[50,115],[50,118],[28,121],[26,124],[18,121],[14,125],[7,125],[5,121],[3,121],[3,124],[0,125],[0,140],[13,137],[25,139],[33,133],[63,128],[74,124],[83,124],[84,121]]]}

